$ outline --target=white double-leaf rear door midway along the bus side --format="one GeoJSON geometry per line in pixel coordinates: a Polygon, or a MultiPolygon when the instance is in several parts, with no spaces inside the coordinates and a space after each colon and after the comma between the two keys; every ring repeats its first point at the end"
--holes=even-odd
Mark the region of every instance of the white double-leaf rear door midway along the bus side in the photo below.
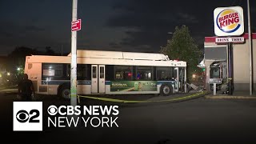
{"type": "Polygon", "coordinates": [[[105,93],[105,65],[91,65],[91,93],[105,93]]]}

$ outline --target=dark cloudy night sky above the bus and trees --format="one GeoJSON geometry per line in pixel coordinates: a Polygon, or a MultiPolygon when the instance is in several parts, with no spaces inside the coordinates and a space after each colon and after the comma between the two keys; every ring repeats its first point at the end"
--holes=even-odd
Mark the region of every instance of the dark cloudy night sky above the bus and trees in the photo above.
{"type": "MultiPolygon", "coordinates": [[[[78,49],[159,52],[182,25],[203,46],[214,36],[214,9],[226,6],[242,6],[247,32],[246,0],[78,0],[78,49]]],[[[250,11],[256,32],[255,0],[250,11]]],[[[0,0],[0,16],[0,55],[18,46],[70,53],[72,0],[0,0]]]]}

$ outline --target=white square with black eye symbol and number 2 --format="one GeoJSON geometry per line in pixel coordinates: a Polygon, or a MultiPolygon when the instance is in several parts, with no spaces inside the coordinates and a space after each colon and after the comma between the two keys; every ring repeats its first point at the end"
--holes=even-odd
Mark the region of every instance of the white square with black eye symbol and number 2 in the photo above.
{"type": "Polygon", "coordinates": [[[42,102],[14,102],[14,131],[42,131],[42,102]]]}

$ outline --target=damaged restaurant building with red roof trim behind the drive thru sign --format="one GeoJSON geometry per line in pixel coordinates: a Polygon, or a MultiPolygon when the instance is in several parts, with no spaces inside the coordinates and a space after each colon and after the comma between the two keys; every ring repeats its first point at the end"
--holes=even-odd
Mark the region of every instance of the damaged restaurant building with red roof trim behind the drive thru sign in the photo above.
{"type": "MultiPolygon", "coordinates": [[[[234,91],[250,90],[249,35],[243,34],[242,37],[244,42],[230,45],[225,42],[216,43],[217,37],[205,37],[205,58],[199,67],[206,69],[206,90],[211,89],[212,78],[221,78],[222,84],[232,81],[234,91]]],[[[251,34],[251,40],[253,90],[256,91],[256,33],[251,34]]]]}

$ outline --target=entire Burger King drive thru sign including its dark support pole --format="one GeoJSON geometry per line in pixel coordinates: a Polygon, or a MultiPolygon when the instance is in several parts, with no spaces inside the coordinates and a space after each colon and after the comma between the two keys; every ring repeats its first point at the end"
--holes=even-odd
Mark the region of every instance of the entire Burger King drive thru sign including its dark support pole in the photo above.
{"type": "Polygon", "coordinates": [[[226,36],[227,38],[216,38],[216,43],[227,43],[227,58],[228,62],[228,83],[229,93],[233,94],[233,46],[234,42],[244,42],[240,36],[244,33],[243,10],[241,6],[218,7],[214,10],[214,33],[218,37],[226,36]]]}

